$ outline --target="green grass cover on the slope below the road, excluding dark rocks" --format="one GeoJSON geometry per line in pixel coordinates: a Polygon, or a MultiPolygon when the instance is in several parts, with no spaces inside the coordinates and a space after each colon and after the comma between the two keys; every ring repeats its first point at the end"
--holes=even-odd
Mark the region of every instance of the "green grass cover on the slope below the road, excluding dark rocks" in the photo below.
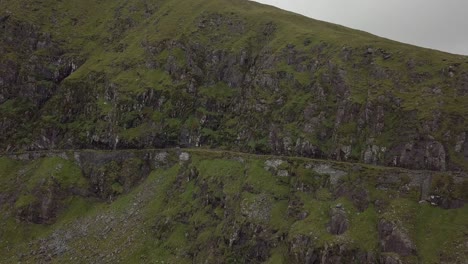
{"type": "MultiPolygon", "coordinates": [[[[173,159],[175,154],[170,155],[169,159],[173,159]]],[[[285,178],[263,168],[267,159],[194,151],[190,162],[176,162],[154,170],[138,187],[111,203],[69,198],[66,210],[52,225],[16,222],[11,208],[5,207],[2,210],[7,213],[0,219],[1,258],[6,262],[34,263],[47,258],[37,255],[42,246],[49,250],[47,254],[55,255],[55,263],[116,259],[124,263],[191,263],[192,259],[243,262],[249,261],[247,254],[243,254],[250,252],[249,244],[235,244],[231,248],[225,241],[241,227],[248,235],[248,226],[254,225],[269,230],[258,239],[274,242],[286,234],[286,240],[276,242],[269,254],[271,261],[287,263],[287,243],[298,235],[313,237],[315,247],[338,243],[346,248],[374,252],[378,249],[377,223],[382,217],[396,220],[408,230],[417,246],[420,263],[438,262],[439,258],[454,260],[455,256],[460,258],[467,254],[466,248],[457,248],[457,245],[464,241],[468,232],[465,221],[468,207],[442,210],[418,204],[411,192],[400,193],[396,191],[398,188],[374,189],[373,182],[379,175],[397,169],[365,166],[359,175],[350,173],[343,179],[344,184],[366,179],[364,186],[371,192],[371,205],[359,212],[347,198],[332,197],[329,191],[333,187],[327,183],[327,176],[306,169],[307,164],[321,162],[288,158],[280,169],[295,176],[285,178]],[[191,174],[193,170],[198,173],[191,174]],[[312,188],[301,191],[297,186],[312,188]],[[400,198],[394,199],[395,195],[400,198]],[[294,199],[303,204],[295,209],[308,214],[303,220],[288,213],[291,210],[288,204],[294,199]],[[390,204],[380,211],[372,205],[377,199],[390,204]],[[337,203],[346,209],[350,229],[343,235],[333,236],[327,232],[326,225],[328,210],[337,203]],[[269,209],[265,211],[265,208],[269,209]],[[24,256],[19,257],[21,254],[24,256]]],[[[55,165],[44,168],[37,166],[36,161],[20,164],[2,158],[0,163],[6,169],[0,172],[0,179],[14,177],[24,168],[31,168],[31,175],[35,176],[25,179],[25,186],[28,186],[38,180],[38,175],[42,175],[41,179],[50,175],[57,164],[68,164],[60,158],[39,162],[55,165]]],[[[350,165],[345,163],[331,165],[351,171],[350,165]]],[[[68,168],[73,170],[74,166],[68,168]]],[[[62,174],[56,174],[59,175],[62,174]]],[[[2,186],[8,188],[12,182],[6,181],[2,186]]],[[[255,239],[250,243],[255,243],[255,239]]]]}

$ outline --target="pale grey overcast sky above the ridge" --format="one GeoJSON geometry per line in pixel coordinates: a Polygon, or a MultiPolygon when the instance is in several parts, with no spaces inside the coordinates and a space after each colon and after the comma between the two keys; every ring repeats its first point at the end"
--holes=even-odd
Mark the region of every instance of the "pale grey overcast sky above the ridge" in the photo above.
{"type": "Polygon", "coordinates": [[[256,0],[417,46],[468,55],[468,0],[256,0]]]}

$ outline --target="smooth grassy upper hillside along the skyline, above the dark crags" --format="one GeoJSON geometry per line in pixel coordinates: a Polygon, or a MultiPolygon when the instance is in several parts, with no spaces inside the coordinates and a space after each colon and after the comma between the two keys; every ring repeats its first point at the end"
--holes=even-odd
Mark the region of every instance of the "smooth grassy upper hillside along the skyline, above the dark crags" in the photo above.
{"type": "MultiPolygon", "coordinates": [[[[450,65],[452,63],[466,62],[465,56],[451,55],[448,53],[407,45],[392,40],[379,38],[366,32],[349,29],[343,26],[322,22],[301,15],[283,11],[271,6],[258,4],[244,0],[184,0],[184,1],[80,1],[59,2],[46,0],[41,5],[28,3],[27,1],[2,1],[5,10],[12,12],[16,19],[33,23],[44,31],[54,34],[69,45],[72,50],[84,54],[92,54],[93,61],[88,62],[95,65],[110,66],[111,60],[138,59],[143,55],[141,47],[142,40],[164,40],[178,39],[183,35],[190,35],[197,30],[196,19],[203,13],[220,12],[223,14],[240,14],[245,19],[249,30],[255,30],[256,26],[266,22],[274,21],[279,25],[279,33],[268,43],[272,48],[282,49],[286,44],[302,44],[304,39],[310,38],[315,41],[330,43],[335,46],[336,51],[348,47],[379,47],[388,51],[394,51],[397,56],[404,55],[405,58],[424,58],[427,62],[425,67],[450,65]],[[143,16],[143,2],[147,2],[149,9],[154,13],[143,16]],[[137,25],[131,32],[125,32],[119,39],[110,40],[108,45],[125,43],[135,53],[112,54],[104,47],[96,43],[106,38],[112,38],[112,30],[109,24],[114,17],[117,8],[122,10],[122,17],[134,19],[137,25]],[[130,12],[129,9],[134,10],[130,12]],[[54,10],[54,11],[52,11],[54,10]],[[51,24],[51,17],[58,21],[51,24]],[[77,22],[74,22],[77,21],[77,22]],[[73,22],[73,23],[72,23],[73,22]],[[157,23],[155,23],[157,22],[157,23]],[[97,41],[96,41],[97,40],[97,41]],[[103,50],[104,49],[104,50],[103,50]],[[102,56],[102,57],[101,57],[102,56]],[[128,56],[126,58],[126,56],[128,56]],[[98,64],[96,64],[98,62],[98,64]]],[[[242,39],[236,40],[242,42],[242,39]]],[[[235,48],[236,43],[232,44],[235,48]]],[[[400,58],[403,58],[401,56],[400,58]]],[[[403,61],[397,61],[397,64],[403,61]]],[[[88,68],[89,69],[89,68],[88,68]]]]}

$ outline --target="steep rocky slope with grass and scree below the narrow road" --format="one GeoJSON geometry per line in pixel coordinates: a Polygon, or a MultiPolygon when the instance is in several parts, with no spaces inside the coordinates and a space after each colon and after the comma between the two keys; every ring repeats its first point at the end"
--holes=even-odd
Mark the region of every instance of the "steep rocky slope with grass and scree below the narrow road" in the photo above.
{"type": "Polygon", "coordinates": [[[467,176],[203,150],[0,158],[2,263],[465,263],[467,176]]]}

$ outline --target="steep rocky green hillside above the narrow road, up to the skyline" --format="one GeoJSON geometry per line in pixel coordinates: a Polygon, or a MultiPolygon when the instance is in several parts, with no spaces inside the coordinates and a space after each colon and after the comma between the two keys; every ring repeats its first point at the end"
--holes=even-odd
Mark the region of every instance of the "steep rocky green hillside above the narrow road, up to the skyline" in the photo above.
{"type": "Polygon", "coordinates": [[[466,169],[467,57],[243,0],[0,7],[3,151],[205,146],[466,169]]]}

